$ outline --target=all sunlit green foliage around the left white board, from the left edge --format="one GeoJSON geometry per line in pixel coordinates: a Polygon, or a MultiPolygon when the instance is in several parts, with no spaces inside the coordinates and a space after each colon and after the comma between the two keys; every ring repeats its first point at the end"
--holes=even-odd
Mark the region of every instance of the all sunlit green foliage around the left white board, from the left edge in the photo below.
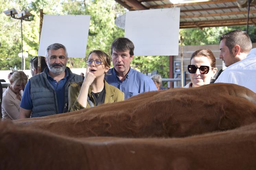
{"type": "MultiPolygon", "coordinates": [[[[44,14],[91,15],[87,50],[101,49],[109,54],[110,45],[115,38],[123,37],[124,30],[114,25],[114,19],[125,13],[124,8],[112,0],[1,0],[0,11],[15,8],[17,11],[28,10],[33,15],[31,22],[23,21],[23,51],[28,52],[25,68],[29,67],[29,59],[37,55],[39,44],[40,9],[44,14]]],[[[17,66],[21,69],[21,26],[20,20],[0,14],[0,68],[8,70],[17,66]]],[[[71,68],[85,67],[85,59],[70,58],[71,68]]]]}

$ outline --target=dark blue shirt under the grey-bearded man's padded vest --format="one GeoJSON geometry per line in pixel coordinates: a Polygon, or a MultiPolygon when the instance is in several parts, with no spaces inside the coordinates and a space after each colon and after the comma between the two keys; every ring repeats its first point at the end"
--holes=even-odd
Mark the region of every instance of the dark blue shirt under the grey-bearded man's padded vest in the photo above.
{"type": "MultiPolygon", "coordinates": [[[[55,89],[58,106],[59,106],[59,113],[62,113],[64,103],[65,103],[64,101],[65,100],[65,84],[69,76],[68,70],[67,69],[65,70],[65,77],[61,79],[59,82],[57,82],[56,80],[53,80],[53,78],[49,75],[48,68],[46,70],[46,74],[47,74],[47,80],[55,89]]],[[[30,96],[30,89],[31,89],[31,84],[30,84],[30,81],[28,80],[24,89],[24,93],[23,93],[23,96],[21,99],[21,105],[20,105],[21,108],[27,109],[27,110],[32,110],[33,108],[33,101],[30,96]]]]}

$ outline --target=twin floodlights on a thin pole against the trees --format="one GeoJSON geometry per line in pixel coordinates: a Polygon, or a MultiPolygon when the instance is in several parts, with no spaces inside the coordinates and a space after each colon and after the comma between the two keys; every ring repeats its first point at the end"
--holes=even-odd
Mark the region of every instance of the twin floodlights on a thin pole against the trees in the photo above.
{"type": "Polygon", "coordinates": [[[28,20],[28,17],[31,16],[31,13],[29,11],[21,11],[20,13],[17,13],[16,9],[12,8],[10,10],[4,11],[3,12],[5,15],[7,16],[11,16],[14,19],[19,19],[21,20],[21,57],[22,57],[22,61],[21,61],[21,69],[24,70],[25,69],[25,56],[23,54],[23,36],[22,36],[22,21],[30,21],[28,20]],[[15,17],[15,15],[17,15],[17,17],[15,17]]]}

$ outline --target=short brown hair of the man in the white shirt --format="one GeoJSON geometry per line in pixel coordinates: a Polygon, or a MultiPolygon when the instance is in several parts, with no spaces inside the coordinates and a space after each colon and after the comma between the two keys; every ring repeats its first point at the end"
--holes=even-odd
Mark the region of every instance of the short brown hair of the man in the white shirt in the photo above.
{"type": "Polygon", "coordinates": [[[234,48],[235,45],[239,45],[241,47],[241,51],[244,53],[249,53],[253,48],[252,41],[245,31],[234,30],[225,33],[220,37],[220,41],[223,39],[226,40],[225,45],[229,48],[231,54],[232,48],[234,48]]]}

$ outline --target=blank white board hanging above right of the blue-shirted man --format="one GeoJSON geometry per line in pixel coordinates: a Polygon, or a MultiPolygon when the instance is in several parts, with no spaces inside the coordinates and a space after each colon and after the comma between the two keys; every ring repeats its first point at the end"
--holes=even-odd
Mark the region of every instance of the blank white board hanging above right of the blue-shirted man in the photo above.
{"type": "Polygon", "coordinates": [[[125,37],[136,56],[178,55],[179,28],[180,8],[126,12],[125,37]]]}

